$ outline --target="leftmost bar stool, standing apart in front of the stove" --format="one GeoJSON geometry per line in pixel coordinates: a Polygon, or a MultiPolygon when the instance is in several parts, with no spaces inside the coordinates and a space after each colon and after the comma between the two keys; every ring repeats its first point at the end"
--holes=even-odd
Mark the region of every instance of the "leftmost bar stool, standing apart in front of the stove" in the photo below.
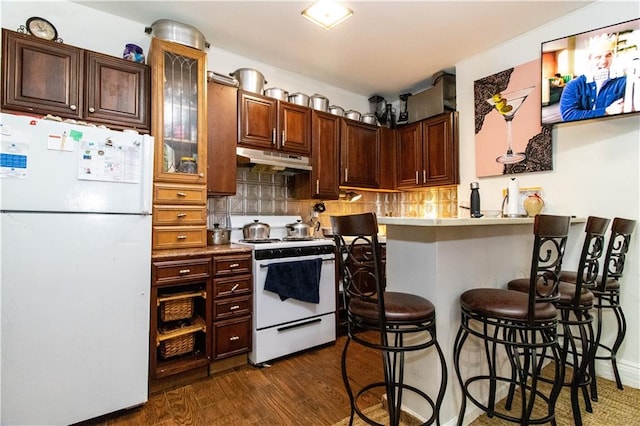
{"type": "Polygon", "coordinates": [[[439,411],[447,385],[444,354],[436,339],[436,311],[420,296],[386,291],[386,277],[378,243],[378,223],[374,213],[331,216],[342,272],[343,295],[347,311],[347,341],[342,351],[342,378],[349,396],[351,416],[378,425],[363,414],[358,399],[373,389],[384,388],[389,424],[398,425],[403,392],[412,392],[431,407],[425,425],[440,424],[439,411]],[[357,255],[356,255],[357,253],[357,255]],[[361,285],[374,282],[374,286],[361,285]],[[347,371],[347,353],[351,342],[381,351],[384,382],[363,385],[354,392],[347,371]],[[442,379],[435,400],[415,386],[404,383],[404,357],[410,351],[435,347],[440,358],[442,379]]]}

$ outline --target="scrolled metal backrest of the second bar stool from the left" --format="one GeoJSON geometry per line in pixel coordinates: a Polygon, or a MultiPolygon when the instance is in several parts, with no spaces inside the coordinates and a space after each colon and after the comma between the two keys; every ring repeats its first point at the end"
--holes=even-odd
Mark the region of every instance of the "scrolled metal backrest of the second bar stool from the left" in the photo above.
{"type": "Polygon", "coordinates": [[[529,274],[528,323],[535,321],[537,303],[559,299],[558,283],[569,234],[568,216],[537,215],[533,222],[533,255],[529,274]]]}

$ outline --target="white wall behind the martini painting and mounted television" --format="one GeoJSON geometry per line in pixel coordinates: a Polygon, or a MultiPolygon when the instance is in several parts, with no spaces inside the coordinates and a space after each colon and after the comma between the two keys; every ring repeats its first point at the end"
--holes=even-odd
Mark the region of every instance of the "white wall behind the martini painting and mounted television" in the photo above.
{"type": "MultiPolygon", "coordinates": [[[[460,200],[468,199],[469,184],[480,183],[483,208],[498,208],[508,177],[478,178],[475,173],[473,82],[540,57],[543,41],[637,18],[637,2],[597,2],[456,64],[457,103],[460,111],[460,200]]],[[[638,219],[640,207],[640,116],[618,117],[555,126],[553,171],[517,175],[521,187],[542,186],[545,212],[576,216],[621,216],[638,219]]],[[[580,236],[582,238],[582,236],[580,236]]],[[[581,241],[566,254],[568,266],[577,265],[581,241]]],[[[628,332],[618,364],[623,382],[640,387],[640,229],[635,232],[625,265],[622,304],[628,332]]],[[[611,317],[608,318],[609,320],[611,317]]],[[[605,329],[612,330],[608,322],[605,329]]],[[[609,375],[606,366],[599,373],[609,375]]]]}

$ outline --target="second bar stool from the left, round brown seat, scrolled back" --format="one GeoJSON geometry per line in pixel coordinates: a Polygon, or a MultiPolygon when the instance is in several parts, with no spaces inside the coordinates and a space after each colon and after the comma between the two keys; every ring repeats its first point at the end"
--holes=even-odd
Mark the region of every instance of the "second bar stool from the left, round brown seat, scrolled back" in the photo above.
{"type": "MultiPolygon", "coordinates": [[[[551,422],[555,425],[555,404],[562,387],[564,364],[557,338],[559,274],[564,257],[570,218],[538,215],[534,218],[533,254],[529,292],[496,288],[467,290],[460,296],[460,328],[454,342],[453,361],[462,389],[458,425],[462,425],[467,399],[487,413],[521,425],[551,422]],[[465,343],[483,343],[488,372],[463,378],[461,357],[465,343]],[[505,353],[498,349],[504,348],[505,353]],[[546,357],[555,364],[555,382],[548,392],[538,387],[546,357]],[[508,359],[508,363],[504,359],[508,359]],[[498,371],[499,365],[510,367],[498,371]],[[505,409],[496,405],[498,384],[520,390],[520,412],[510,413],[514,393],[509,392],[505,409]],[[545,404],[545,414],[533,416],[536,404],[545,404]]],[[[473,363],[477,365],[477,363],[473,363]]],[[[471,368],[471,367],[466,367],[471,368]]]]}

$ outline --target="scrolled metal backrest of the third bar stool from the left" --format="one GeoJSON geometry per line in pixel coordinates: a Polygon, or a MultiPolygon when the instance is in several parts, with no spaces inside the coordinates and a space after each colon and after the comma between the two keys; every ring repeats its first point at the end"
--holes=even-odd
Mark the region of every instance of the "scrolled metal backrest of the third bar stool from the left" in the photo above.
{"type": "Polygon", "coordinates": [[[589,216],[585,225],[584,243],[580,253],[580,261],[576,273],[576,292],[573,305],[578,305],[583,289],[593,290],[598,285],[600,258],[604,254],[605,233],[609,227],[609,219],[589,216]]]}

